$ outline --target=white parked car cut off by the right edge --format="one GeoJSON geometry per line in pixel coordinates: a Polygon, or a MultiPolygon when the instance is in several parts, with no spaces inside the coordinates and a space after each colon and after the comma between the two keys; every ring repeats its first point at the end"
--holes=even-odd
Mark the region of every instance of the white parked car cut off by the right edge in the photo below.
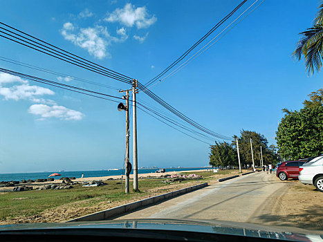
{"type": "Polygon", "coordinates": [[[303,184],[314,185],[323,192],[323,156],[318,156],[299,167],[298,180],[303,184]]]}

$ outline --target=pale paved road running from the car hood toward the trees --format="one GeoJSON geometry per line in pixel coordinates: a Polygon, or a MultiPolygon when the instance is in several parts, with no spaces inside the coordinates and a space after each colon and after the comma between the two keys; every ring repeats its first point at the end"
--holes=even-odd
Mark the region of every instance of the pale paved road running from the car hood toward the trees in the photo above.
{"type": "Polygon", "coordinates": [[[216,183],[116,219],[216,219],[252,223],[264,210],[270,196],[285,185],[274,174],[257,172],[216,183]]]}

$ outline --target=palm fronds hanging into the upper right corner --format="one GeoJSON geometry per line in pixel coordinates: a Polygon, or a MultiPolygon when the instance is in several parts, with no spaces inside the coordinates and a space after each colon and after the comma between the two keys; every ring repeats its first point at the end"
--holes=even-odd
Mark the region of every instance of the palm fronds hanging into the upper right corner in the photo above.
{"type": "Polygon", "coordinates": [[[298,59],[305,58],[306,70],[308,75],[320,71],[323,59],[323,1],[317,11],[313,27],[299,33],[303,37],[297,42],[293,55],[298,59]]]}

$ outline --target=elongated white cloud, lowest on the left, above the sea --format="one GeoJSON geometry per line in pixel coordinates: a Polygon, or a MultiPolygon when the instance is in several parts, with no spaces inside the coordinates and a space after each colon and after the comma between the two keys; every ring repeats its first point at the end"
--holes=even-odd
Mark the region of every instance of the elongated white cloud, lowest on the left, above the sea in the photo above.
{"type": "Polygon", "coordinates": [[[29,107],[28,113],[39,115],[39,120],[45,120],[46,118],[59,118],[60,120],[82,120],[84,114],[68,109],[65,106],[48,106],[45,104],[33,104],[29,107]]]}

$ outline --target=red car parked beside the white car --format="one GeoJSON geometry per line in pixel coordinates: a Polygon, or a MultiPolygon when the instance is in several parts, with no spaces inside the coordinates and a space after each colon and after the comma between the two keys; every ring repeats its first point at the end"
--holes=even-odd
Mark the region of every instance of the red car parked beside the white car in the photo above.
{"type": "Polygon", "coordinates": [[[280,180],[287,180],[288,178],[297,178],[299,176],[299,166],[304,164],[304,160],[288,160],[282,162],[277,168],[276,176],[280,180]]]}

